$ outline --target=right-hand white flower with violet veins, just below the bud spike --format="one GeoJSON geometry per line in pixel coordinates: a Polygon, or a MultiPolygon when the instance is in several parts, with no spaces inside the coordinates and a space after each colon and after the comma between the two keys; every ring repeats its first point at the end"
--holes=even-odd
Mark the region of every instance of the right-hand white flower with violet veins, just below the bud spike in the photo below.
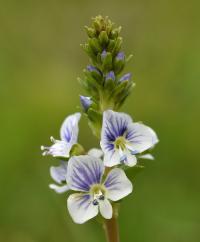
{"type": "Polygon", "coordinates": [[[151,128],[133,123],[129,115],[111,110],[103,113],[100,144],[105,166],[134,166],[137,163],[135,155],[148,150],[157,142],[157,135],[151,128]]]}

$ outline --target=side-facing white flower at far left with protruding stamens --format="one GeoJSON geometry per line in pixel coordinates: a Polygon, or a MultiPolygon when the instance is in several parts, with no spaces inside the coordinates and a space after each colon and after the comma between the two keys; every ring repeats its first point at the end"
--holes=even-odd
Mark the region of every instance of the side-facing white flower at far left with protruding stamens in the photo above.
{"type": "Polygon", "coordinates": [[[43,155],[64,158],[69,157],[72,146],[77,143],[79,132],[78,122],[80,117],[80,113],[75,113],[64,120],[60,129],[61,140],[55,140],[51,137],[50,139],[54,144],[50,147],[41,146],[41,150],[44,151],[43,155]]]}

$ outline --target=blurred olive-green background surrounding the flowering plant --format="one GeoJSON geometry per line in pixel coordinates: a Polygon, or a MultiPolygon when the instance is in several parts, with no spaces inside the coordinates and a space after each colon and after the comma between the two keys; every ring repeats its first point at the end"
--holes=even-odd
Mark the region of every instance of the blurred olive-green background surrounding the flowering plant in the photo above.
{"type": "MultiPolygon", "coordinates": [[[[97,14],[123,26],[124,50],[134,54],[126,71],[136,87],[122,110],[160,139],[121,206],[121,240],[200,241],[199,8],[195,0],[1,1],[0,241],[104,241],[94,221],[72,222],[66,194],[48,189],[55,161],[40,151],[78,110],[76,78],[88,63],[79,44],[97,14]]],[[[84,119],[79,140],[98,146],[84,119]]]]}

